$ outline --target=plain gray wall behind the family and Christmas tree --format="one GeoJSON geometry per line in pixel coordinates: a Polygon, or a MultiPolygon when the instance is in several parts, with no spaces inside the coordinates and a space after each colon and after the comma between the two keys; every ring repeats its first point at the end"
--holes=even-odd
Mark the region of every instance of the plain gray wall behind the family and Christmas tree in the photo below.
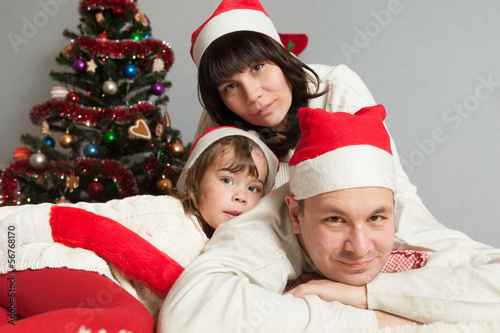
{"type": "MultiPolygon", "coordinates": [[[[153,36],[172,45],[168,111],[184,141],[200,113],[191,32],[219,1],[140,0],[153,36]]],[[[500,247],[500,2],[262,0],[280,32],[305,33],[308,63],[345,63],[386,106],[401,160],[427,208],[447,226],[500,247]]],[[[49,71],[76,30],[78,1],[0,4],[0,161],[10,162],[33,105],[57,85],[49,71]],[[28,26],[35,29],[29,29],[28,26]],[[22,42],[12,43],[15,34],[22,42]]]]}

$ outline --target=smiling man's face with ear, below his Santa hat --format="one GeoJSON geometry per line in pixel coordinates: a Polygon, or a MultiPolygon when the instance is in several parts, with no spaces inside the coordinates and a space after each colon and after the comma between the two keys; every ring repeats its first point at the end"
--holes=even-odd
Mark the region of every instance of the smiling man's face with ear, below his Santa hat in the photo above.
{"type": "Polygon", "coordinates": [[[292,195],[286,202],[293,233],[326,278],[361,286],[384,267],[394,239],[391,190],[364,187],[323,193],[305,199],[303,209],[292,195]]]}

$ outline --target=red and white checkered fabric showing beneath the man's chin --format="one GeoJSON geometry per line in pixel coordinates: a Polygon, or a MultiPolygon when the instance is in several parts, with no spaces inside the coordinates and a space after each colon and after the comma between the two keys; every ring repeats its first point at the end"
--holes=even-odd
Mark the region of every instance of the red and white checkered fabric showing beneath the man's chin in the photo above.
{"type": "MultiPolygon", "coordinates": [[[[429,255],[427,252],[413,250],[392,251],[389,259],[380,272],[398,273],[410,269],[421,268],[425,266],[428,258],[429,255]]],[[[307,281],[319,279],[324,279],[324,277],[316,273],[304,272],[298,278],[288,281],[285,292],[301,285],[302,283],[306,283],[307,281]]]]}

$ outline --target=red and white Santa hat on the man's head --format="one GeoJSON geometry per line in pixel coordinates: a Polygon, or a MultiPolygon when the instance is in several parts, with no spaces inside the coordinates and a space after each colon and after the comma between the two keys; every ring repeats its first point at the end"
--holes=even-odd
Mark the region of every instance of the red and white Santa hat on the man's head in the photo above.
{"type": "Polygon", "coordinates": [[[301,138],[289,161],[295,199],[357,187],[395,192],[395,165],[382,105],[354,115],[321,109],[299,110],[301,138]]]}

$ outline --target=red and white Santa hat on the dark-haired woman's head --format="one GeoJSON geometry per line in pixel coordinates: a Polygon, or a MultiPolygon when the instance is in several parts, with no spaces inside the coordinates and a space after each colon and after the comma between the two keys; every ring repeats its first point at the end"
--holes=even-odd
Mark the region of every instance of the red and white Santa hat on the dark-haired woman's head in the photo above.
{"type": "Polygon", "coordinates": [[[191,36],[191,57],[196,66],[214,40],[234,31],[260,32],[281,44],[278,31],[258,0],[223,0],[191,36]]]}

